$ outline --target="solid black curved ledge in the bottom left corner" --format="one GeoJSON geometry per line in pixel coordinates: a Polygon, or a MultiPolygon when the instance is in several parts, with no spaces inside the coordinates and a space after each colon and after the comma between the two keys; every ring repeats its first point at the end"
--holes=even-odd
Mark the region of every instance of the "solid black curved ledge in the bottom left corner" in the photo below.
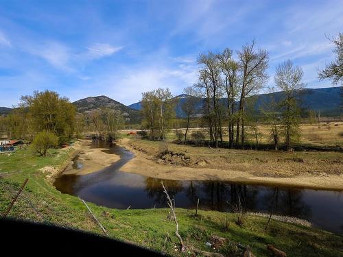
{"type": "Polygon", "coordinates": [[[0,234],[0,256],[162,256],[104,236],[13,219],[0,219],[0,234]]]}

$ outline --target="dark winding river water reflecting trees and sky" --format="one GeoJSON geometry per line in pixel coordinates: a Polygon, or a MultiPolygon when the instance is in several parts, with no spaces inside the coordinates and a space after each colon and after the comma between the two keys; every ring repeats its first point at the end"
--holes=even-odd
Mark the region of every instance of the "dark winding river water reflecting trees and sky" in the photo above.
{"type": "MultiPolygon", "coordinates": [[[[87,175],[62,175],[54,186],[62,193],[109,208],[167,207],[161,180],[119,171],[134,155],[123,147],[102,142],[92,147],[108,147],[109,154],[121,159],[101,171],[87,175]]],[[[77,169],[77,168],[75,168],[77,169]]],[[[247,211],[270,212],[307,219],[320,228],[343,232],[342,192],[314,191],[296,188],[252,186],[229,182],[163,180],[176,207],[231,211],[240,200],[247,211]]]]}

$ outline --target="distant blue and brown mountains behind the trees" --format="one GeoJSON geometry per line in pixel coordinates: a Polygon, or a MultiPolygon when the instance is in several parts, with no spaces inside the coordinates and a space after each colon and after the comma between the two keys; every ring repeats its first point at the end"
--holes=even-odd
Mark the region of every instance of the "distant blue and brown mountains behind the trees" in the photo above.
{"type": "MultiPolygon", "coordinates": [[[[343,114],[342,103],[343,98],[341,94],[343,93],[343,87],[330,87],[330,88],[307,88],[300,94],[302,108],[307,110],[316,110],[320,112],[321,116],[339,116],[343,114]]],[[[270,101],[273,97],[275,101],[279,101],[283,98],[283,92],[276,92],[270,94],[253,95],[249,97],[252,99],[254,109],[259,112],[263,105],[270,101]]],[[[176,99],[176,117],[184,118],[185,112],[182,111],[182,104],[185,103],[189,95],[178,95],[176,99]]],[[[202,113],[202,106],[204,106],[204,98],[198,97],[199,101],[196,105],[196,110],[198,114],[202,113]]],[[[227,102],[226,98],[221,99],[223,103],[227,102]]],[[[141,120],[141,102],[132,103],[130,106],[125,106],[119,101],[115,101],[110,97],[104,95],[97,97],[86,97],[78,101],[74,101],[73,105],[77,108],[78,112],[86,113],[92,110],[99,110],[102,107],[113,108],[120,110],[123,116],[126,117],[128,123],[140,123],[141,120]]],[[[0,114],[9,114],[11,108],[0,107],[0,114]]]]}

